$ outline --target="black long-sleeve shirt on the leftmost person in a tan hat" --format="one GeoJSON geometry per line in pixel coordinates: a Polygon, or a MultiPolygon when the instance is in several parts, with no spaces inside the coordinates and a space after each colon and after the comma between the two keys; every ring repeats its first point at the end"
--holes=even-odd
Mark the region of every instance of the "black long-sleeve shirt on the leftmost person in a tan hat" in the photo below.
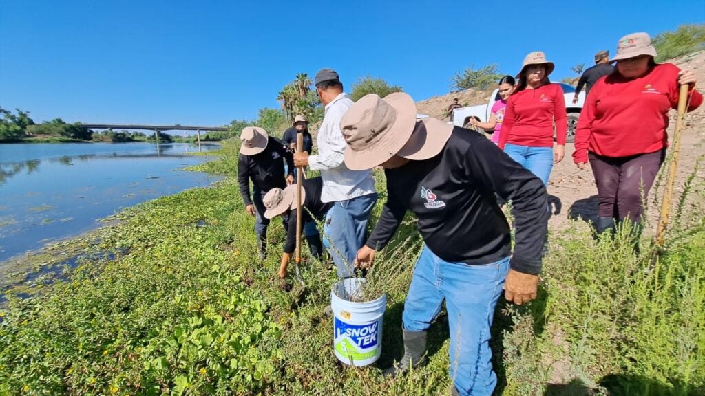
{"type": "Polygon", "coordinates": [[[288,174],[294,172],[294,156],[284,147],[284,142],[276,137],[269,137],[266,148],[259,154],[246,156],[240,154],[238,159],[238,183],[240,195],[245,205],[252,205],[250,199],[250,179],[252,185],[264,192],[274,187],[285,188],[284,160],[288,166],[288,174]]]}

